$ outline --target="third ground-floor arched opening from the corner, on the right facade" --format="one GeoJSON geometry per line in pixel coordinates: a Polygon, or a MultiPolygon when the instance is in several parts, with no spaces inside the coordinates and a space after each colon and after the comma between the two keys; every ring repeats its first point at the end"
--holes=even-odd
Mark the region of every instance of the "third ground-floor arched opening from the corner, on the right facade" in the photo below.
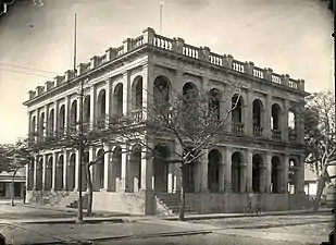
{"type": "Polygon", "coordinates": [[[220,191],[220,164],[222,155],[217,149],[213,149],[208,154],[208,188],[211,193],[220,191]]]}

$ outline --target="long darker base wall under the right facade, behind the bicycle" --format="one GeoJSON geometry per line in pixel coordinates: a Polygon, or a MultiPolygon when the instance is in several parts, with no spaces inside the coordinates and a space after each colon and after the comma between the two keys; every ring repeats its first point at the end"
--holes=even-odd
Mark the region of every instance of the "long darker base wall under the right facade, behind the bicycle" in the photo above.
{"type": "MultiPolygon", "coordinates": [[[[291,203],[299,201],[289,194],[253,194],[252,204],[260,203],[264,211],[298,209],[291,203]]],[[[249,194],[186,194],[186,205],[199,213],[242,212],[248,205],[249,194]]]]}

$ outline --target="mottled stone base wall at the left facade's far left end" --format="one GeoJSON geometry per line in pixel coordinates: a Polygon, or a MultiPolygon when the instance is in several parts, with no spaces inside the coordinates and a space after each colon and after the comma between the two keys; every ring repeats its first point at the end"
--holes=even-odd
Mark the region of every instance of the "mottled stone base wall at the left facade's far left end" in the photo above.
{"type": "Polygon", "coordinates": [[[27,191],[26,200],[34,204],[57,205],[67,195],[66,191],[27,191]]]}

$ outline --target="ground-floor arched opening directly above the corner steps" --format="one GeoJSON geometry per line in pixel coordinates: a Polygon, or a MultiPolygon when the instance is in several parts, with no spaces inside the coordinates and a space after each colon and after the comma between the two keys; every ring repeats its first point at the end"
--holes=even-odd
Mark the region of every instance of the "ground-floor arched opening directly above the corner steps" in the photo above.
{"type": "Polygon", "coordinates": [[[167,174],[169,164],[164,161],[171,155],[170,149],[165,145],[157,145],[154,147],[154,189],[155,192],[167,192],[167,174]]]}

